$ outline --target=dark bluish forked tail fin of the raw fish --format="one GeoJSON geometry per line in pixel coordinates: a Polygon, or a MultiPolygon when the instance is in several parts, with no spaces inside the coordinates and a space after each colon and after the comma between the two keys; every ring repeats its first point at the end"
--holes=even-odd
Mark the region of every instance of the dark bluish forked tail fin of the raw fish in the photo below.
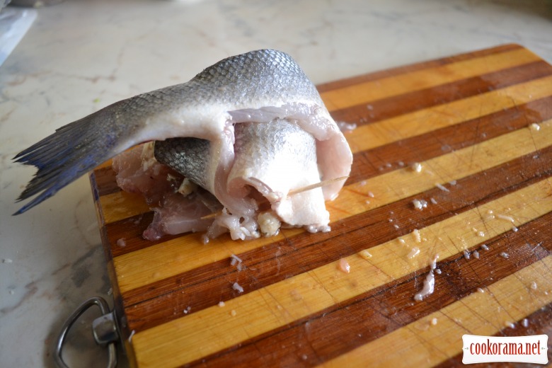
{"type": "Polygon", "coordinates": [[[114,124],[116,109],[112,107],[113,105],[59,128],[54,134],[13,158],[18,163],[38,168],[16,202],[40,193],[14,215],[22,214],[52,197],[65,185],[125,149],[121,149],[121,134],[114,124]]]}

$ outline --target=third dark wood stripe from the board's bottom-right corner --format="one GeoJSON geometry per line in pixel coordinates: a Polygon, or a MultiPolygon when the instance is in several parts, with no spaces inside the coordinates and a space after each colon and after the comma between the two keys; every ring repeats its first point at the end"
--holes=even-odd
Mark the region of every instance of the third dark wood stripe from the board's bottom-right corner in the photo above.
{"type": "Polygon", "coordinates": [[[336,222],[330,233],[317,234],[316,241],[314,236],[304,233],[241,253],[239,257],[246,266],[242,272],[237,272],[226,259],[133,289],[122,294],[128,324],[137,331],[157,326],[178,318],[180,314],[175,311],[187,306],[191,306],[193,313],[232,299],[237,296],[231,288],[233,282],[251,292],[325,265],[328,260],[338,260],[410,234],[413,229],[440,222],[551,176],[552,146],[542,149],[538,160],[533,156],[522,156],[458,180],[454,188],[449,185],[450,192],[432,188],[415,195],[428,202],[432,197],[437,200],[437,205],[429,205],[422,212],[413,209],[414,197],[409,197],[336,222]],[[390,217],[393,223],[389,222],[390,217]]]}

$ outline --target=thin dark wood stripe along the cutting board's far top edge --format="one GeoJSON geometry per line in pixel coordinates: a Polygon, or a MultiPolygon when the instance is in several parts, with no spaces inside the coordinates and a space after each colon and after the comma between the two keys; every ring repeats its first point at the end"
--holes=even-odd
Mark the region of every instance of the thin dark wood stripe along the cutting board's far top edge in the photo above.
{"type": "Polygon", "coordinates": [[[355,84],[360,84],[367,81],[375,81],[377,79],[388,78],[389,76],[398,76],[400,74],[407,74],[407,73],[411,73],[413,71],[418,71],[422,69],[440,67],[442,65],[452,64],[454,62],[464,62],[466,60],[476,59],[478,57],[483,57],[483,56],[488,56],[493,54],[500,54],[502,52],[519,50],[521,48],[522,48],[521,46],[514,45],[514,44],[501,45],[498,47],[493,47],[491,49],[485,49],[485,50],[480,50],[476,52],[468,52],[466,54],[458,54],[452,57],[443,57],[442,59],[432,60],[430,62],[420,62],[420,63],[406,65],[403,67],[386,69],[384,71],[376,71],[369,74],[364,74],[362,76],[353,76],[347,79],[340,79],[339,81],[319,84],[317,88],[318,88],[318,91],[320,92],[332,91],[334,89],[353,86],[355,84]]]}

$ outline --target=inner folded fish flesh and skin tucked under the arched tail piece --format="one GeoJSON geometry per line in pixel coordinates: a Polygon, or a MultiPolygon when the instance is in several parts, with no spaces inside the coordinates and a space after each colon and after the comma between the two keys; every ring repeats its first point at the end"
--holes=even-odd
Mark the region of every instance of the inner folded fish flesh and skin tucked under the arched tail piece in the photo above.
{"type": "Polygon", "coordinates": [[[171,138],[115,157],[117,184],[142,192],[154,209],[144,238],[207,231],[205,239],[229,232],[234,240],[246,240],[273,236],[281,226],[304,224],[311,224],[307,229],[312,232],[329,231],[322,188],[301,190],[321,182],[312,134],[296,121],[282,119],[240,122],[233,128],[234,159],[223,173],[212,167],[215,153],[207,139],[171,138]],[[213,171],[224,185],[209,190],[207,178],[213,171]],[[140,177],[149,185],[128,184],[140,177]],[[233,200],[225,207],[217,197],[233,200]]]}

